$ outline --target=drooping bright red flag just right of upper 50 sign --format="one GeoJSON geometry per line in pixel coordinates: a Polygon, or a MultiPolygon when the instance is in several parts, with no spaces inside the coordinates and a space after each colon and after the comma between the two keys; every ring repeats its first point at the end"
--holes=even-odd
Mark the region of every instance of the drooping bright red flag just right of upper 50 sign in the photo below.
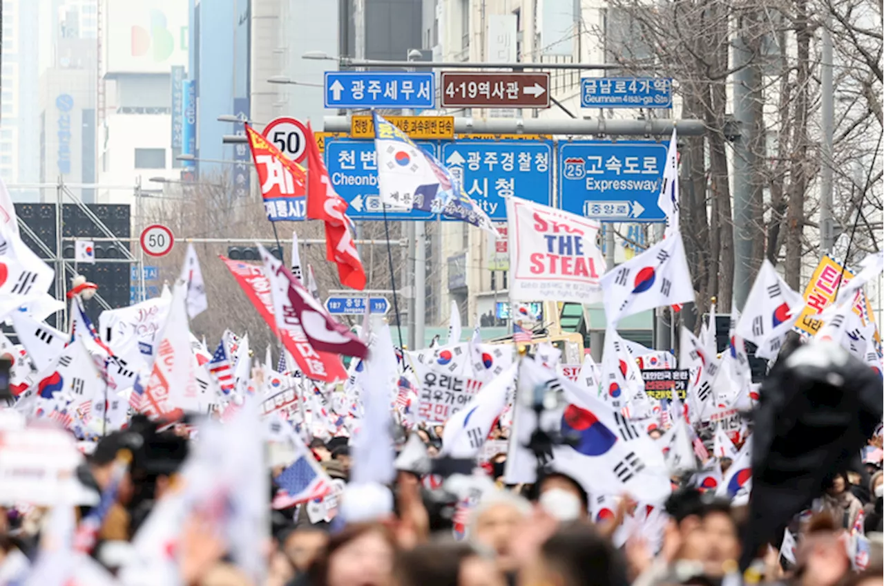
{"type": "Polygon", "coordinates": [[[340,281],[352,289],[365,289],[365,269],[350,233],[347,202],[331,185],[328,169],[319,156],[313,129],[307,124],[307,161],[310,167],[307,182],[307,218],[325,222],[325,258],[338,265],[340,281]]]}

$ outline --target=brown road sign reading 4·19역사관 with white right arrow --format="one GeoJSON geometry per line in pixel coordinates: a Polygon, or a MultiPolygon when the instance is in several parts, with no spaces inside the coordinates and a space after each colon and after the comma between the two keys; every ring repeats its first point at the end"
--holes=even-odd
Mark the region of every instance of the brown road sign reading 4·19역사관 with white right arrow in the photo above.
{"type": "Polygon", "coordinates": [[[445,108],[549,108],[549,73],[442,72],[445,108]]]}

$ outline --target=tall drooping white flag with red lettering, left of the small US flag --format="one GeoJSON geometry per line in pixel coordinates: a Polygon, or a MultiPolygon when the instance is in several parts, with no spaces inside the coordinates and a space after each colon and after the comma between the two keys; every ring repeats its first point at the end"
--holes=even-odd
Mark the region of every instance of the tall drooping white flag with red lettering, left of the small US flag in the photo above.
{"type": "Polygon", "coordinates": [[[176,285],[153,370],[144,388],[147,404],[143,405],[142,411],[157,417],[166,416],[176,409],[197,411],[200,408],[196,361],[190,348],[190,328],[187,325],[186,296],[187,289],[176,285]]]}

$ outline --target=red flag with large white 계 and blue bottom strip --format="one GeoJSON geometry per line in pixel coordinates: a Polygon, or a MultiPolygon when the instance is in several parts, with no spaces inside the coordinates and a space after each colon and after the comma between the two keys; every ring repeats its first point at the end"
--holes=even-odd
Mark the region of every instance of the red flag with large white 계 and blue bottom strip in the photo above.
{"type": "Polygon", "coordinates": [[[303,220],[307,195],[307,173],[286,158],[275,145],[246,125],[248,147],[261,184],[267,220],[303,220]]]}

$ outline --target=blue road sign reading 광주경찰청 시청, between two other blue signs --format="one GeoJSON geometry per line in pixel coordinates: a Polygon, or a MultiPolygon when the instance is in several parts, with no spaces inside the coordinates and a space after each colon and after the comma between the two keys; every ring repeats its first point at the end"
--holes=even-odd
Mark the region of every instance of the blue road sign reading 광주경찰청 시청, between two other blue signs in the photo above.
{"type": "Polygon", "coordinates": [[[552,202],[552,142],[445,143],[442,162],[492,220],[507,219],[505,197],[552,202]]]}

